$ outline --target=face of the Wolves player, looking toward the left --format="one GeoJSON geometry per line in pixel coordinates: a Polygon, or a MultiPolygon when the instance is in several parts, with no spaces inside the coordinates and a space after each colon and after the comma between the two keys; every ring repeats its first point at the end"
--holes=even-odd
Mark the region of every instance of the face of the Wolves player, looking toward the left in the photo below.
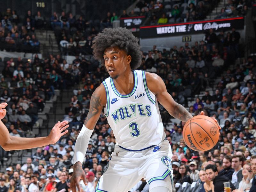
{"type": "Polygon", "coordinates": [[[110,47],[106,49],[103,58],[108,74],[113,79],[124,74],[124,72],[130,68],[132,59],[130,55],[127,55],[125,51],[120,50],[118,47],[110,47]]]}

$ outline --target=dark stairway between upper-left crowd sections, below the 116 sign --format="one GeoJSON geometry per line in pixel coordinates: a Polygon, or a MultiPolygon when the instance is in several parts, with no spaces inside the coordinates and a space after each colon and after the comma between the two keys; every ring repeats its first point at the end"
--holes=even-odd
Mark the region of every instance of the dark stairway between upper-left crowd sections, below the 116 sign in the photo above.
{"type": "Polygon", "coordinates": [[[49,54],[60,54],[60,50],[52,30],[36,30],[36,38],[40,42],[40,53],[43,58],[48,58],[49,54]]]}

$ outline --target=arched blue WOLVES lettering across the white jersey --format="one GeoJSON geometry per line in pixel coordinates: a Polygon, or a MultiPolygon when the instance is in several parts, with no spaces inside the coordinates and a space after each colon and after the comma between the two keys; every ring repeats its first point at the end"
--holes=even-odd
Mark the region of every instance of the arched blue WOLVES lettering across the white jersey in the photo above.
{"type": "Polygon", "coordinates": [[[148,116],[152,115],[150,105],[144,107],[143,104],[130,104],[116,109],[112,114],[112,118],[115,123],[126,118],[135,117],[136,112],[139,112],[139,116],[148,116]]]}

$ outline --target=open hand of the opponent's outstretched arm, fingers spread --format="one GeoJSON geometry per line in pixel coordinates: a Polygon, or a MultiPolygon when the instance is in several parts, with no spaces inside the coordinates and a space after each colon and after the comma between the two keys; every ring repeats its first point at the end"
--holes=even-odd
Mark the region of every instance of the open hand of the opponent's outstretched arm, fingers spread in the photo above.
{"type": "Polygon", "coordinates": [[[54,127],[52,128],[52,131],[47,136],[51,144],[56,143],[60,139],[60,137],[62,137],[68,132],[68,130],[63,132],[65,129],[68,128],[68,126],[69,126],[68,121],[62,121],[62,122],[58,121],[58,123],[54,125],[54,127]]]}

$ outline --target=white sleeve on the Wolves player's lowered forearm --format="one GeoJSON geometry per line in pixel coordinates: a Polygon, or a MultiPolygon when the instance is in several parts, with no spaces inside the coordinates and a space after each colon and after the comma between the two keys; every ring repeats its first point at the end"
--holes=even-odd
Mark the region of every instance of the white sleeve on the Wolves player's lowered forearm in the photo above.
{"type": "Polygon", "coordinates": [[[85,125],[83,125],[82,130],[76,139],[74,164],[78,161],[83,164],[84,156],[88,148],[92,132],[93,130],[88,129],[85,127],[85,125]]]}

